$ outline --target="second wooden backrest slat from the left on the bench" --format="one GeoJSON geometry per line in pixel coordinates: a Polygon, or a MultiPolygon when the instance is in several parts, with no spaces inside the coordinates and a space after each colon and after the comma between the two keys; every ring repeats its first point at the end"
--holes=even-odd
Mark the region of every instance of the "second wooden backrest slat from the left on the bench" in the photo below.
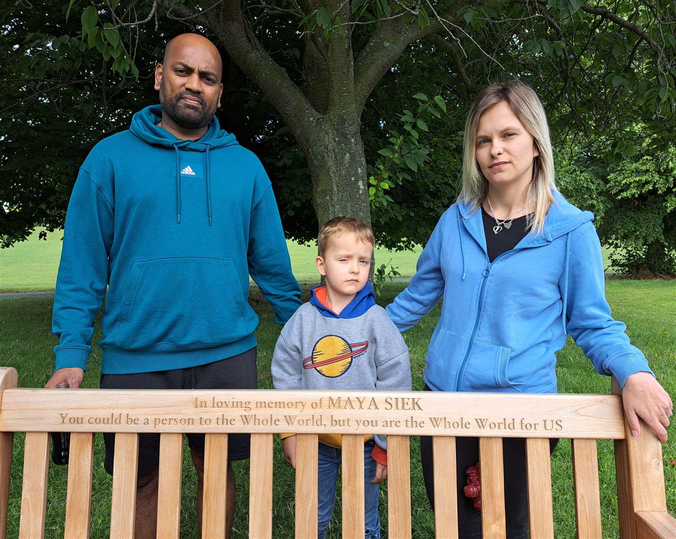
{"type": "Polygon", "coordinates": [[[94,474],[94,434],[73,432],[68,452],[68,492],[64,538],[89,537],[91,482],[94,474]]]}

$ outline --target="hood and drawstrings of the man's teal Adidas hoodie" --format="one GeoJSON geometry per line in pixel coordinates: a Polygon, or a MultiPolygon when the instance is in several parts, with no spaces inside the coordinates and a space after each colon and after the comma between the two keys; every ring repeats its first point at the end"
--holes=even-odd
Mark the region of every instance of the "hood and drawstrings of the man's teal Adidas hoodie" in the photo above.
{"type": "Polygon", "coordinates": [[[210,174],[210,151],[214,148],[224,148],[238,145],[235,135],[228,133],[220,128],[218,118],[214,116],[209,123],[205,134],[198,140],[183,140],[176,138],[166,129],[158,126],[162,121],[162,105],[151,105],[141,109],[131,119],[129,130],[138,136],[141,140],[153,146],[162,146],[173,148],[176,156],[176,222],[180,224],[180,150],[203,151],[205,156],[205,180],[207,195],[207,217],[209,226],[212,225],[212,193],[211,193],[211,174],[210,174]]]}

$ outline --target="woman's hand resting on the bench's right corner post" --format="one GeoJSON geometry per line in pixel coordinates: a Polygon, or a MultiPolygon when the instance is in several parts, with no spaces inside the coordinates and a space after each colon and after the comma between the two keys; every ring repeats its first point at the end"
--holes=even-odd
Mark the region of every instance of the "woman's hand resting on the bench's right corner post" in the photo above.
{"type": "Polygon", "coordinates": [[[622,402],[625,407],[631,434],[639,436],[641,425],[638,417],[646,421],[660,442],[667,441],[669,417],[673,403],[669,394],[649,372],[635,372],[625,382],[622,390],[622,402]]]}

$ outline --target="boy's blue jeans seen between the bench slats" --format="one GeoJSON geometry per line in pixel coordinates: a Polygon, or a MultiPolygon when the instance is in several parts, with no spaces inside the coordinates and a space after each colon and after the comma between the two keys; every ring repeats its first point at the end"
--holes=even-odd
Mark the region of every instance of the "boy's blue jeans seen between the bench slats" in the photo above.
{"type": "MultiPolygon", "coordinates": [[[[371,457],[375,442],[364,443],[364,537],[380,539],[380,519],[378,517],[379,486],[372,484],[376,475],[376,461],[371,457]]],[[[336,479],[341,465],[340,449],[319,444],[319,488],[318,488],[318,536],[324,539],[327,526],[333,515],[333,502],[336,494],[336,479]]]]}

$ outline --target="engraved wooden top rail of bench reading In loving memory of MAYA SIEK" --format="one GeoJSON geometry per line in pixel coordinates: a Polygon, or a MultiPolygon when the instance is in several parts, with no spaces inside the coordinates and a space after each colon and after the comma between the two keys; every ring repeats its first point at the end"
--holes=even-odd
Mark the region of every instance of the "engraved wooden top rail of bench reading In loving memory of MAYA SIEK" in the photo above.
{"type": "Polygon", "coordinates": [[[7,389],[4,432],[625,437],[615,395],[7,389]]]}

